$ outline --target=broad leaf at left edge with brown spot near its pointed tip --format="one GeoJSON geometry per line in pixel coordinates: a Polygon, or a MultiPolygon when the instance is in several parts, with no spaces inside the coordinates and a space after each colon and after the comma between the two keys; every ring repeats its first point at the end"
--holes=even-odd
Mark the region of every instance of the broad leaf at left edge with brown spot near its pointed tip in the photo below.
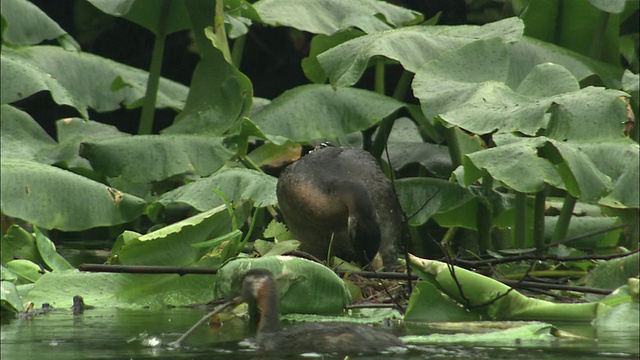
{"type": "Polygon", "coordinates": [[[122,224],[146,206],[142,199],[53,166],[5,159],[1,166],[2,213],[45,229],[122,224]]]}

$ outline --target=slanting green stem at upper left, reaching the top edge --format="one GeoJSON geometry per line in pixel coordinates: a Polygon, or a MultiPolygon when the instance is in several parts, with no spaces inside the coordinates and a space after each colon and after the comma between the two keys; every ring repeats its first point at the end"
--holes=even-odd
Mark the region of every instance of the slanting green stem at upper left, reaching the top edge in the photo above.
{"type": "Polygon", "coordinates": [[[153,53],[151,55],[151,67],[149,69],[149,79],[147,80],[147,90],[144,94],[142,114],[138,135],[151,134],[153,131],[153,115],[156,110],[156,98],[160,85],[160,73],[162,71],[162,57],[164,55],[164,44],[167,38],[167,20],[169,18],[169,0],[162,0],[160,5],[160,17],[156,28],[156,38],[153,43],[153,53]]]}

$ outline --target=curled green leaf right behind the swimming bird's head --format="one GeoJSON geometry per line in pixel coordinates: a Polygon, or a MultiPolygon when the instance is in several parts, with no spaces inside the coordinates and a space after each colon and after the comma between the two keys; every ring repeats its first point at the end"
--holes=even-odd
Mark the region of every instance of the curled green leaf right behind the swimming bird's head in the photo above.
{"type": "Polygon", "coordinates": [[[250,269],[270,270],[278,284],[280,313],[340,314],[351,303],[345,283],[329,268],[291,256],[235,259],[218,271],[216,297],[240,294],[242,276],[250,269]]]}

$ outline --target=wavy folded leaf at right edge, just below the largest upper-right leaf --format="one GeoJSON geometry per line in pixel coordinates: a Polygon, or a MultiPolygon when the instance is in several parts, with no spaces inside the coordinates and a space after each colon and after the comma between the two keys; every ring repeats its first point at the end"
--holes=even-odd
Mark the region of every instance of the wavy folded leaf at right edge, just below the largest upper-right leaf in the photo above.
{"type": "MultiPolygon", "coordinates": [[[[576,127],[578,123],[576,120],[576,127]]],[[[594,131],[591,135],[601,134],[595,127],[594,131]]],[[[487,171],[516,191],[536,192],[547,183],[587,203],[638,207],[639,174],[635,164],[639,155],[638,145],[632,141],[558,141],[508,134],[496,134],[494,140],[497,147],[465,155],[462,167],[454,172],[461,184],[471,185],[487,171]]]]}

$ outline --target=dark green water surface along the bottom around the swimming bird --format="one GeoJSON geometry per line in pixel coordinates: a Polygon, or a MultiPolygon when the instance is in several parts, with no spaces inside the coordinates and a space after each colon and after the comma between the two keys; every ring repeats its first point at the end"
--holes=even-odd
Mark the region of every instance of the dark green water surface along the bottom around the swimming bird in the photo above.
{"type": "MultiPolygon", "coordinates": [[[[243,341],[251,336],[247,322],[232,319],[220,327],[202,326],[186,342],[169,350],[157,342],[176,340],[204,309],[93,309],[82,315],[53,311],[33,318],[3,316],[2,359],[263,359],[243,341]]],[[[4,314],[7,315],[7,314],[4,314]]],[[[425,346],[403,354],[352,356],[351,359],[637,359],[637,333],[595,334],[588,324],[561,325],[594,341],[556,341],[512,347],[490,345],[425,346]]],[[[415,330],[413,330],[415,332],[415,330]]],[[[272,356],[271,359],[280,358],[272,356]]],[[[294,357],[300,358],[300,357],[294,357]]],[[[338,358],[325,356],[324,358],[338,358]]]]}

